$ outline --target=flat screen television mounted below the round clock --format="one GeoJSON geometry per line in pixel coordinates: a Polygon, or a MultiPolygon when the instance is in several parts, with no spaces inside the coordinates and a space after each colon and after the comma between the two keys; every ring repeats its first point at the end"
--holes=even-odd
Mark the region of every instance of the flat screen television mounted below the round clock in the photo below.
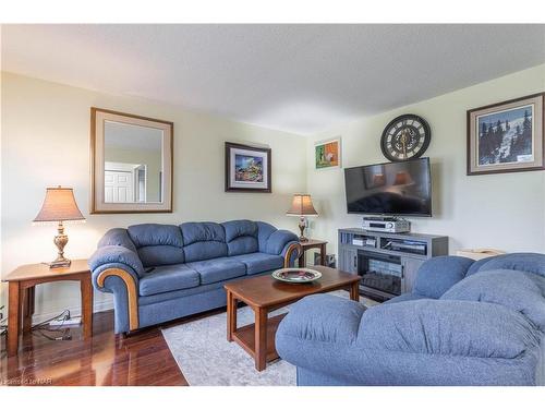
{"type": "Polygon", "coordinates": [[[432,216],[429,158],[344,169],[348,213],[432,216]]]}

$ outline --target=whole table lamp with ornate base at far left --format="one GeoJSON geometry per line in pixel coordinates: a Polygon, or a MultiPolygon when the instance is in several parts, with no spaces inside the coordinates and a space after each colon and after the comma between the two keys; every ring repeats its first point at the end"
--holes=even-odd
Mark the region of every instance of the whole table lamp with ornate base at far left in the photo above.
{"type": "Polygon", "coordinates": [[[70,266],[70,260],[64,257],[64,245],[68,243],[68,236],[64,234],[62,222],[66,220],[85,220],[85,217],[83,217],[82,212],[80,212],[75,203],[74,192],[71,188],[47,188],[46,199],[34,222],[59,224],[57,236],[53,240],[59,253],[56,260],[48,263],[50,268],[70,266]]]}

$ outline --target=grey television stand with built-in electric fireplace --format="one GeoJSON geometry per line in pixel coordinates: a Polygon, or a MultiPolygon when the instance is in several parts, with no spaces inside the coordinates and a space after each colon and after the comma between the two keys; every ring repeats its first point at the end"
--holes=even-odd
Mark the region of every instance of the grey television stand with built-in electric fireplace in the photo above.
{"type": "Polygon", "coordinates": [[[448,255],[448,237],[339,229],[339,269],[359,274],[360,293],[377,301],[411,292],[426,260],[448,255]]]}

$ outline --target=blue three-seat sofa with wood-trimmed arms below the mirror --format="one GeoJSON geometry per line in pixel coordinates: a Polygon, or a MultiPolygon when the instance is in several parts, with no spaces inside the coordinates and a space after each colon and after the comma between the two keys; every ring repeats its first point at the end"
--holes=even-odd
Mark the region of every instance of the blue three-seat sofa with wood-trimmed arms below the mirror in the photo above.
{"type": "Polygon", "coordinates": [[[116,334],[227,303],[223,285],[293,265],[298,237],[263,221],[136,225],[109,230],[89,260],[113,293],[116,334]]]}

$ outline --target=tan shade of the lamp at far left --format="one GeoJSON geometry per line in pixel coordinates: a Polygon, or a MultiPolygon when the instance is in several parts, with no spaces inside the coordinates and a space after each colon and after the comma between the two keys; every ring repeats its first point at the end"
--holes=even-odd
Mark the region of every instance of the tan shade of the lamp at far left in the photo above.
{"type": "Polygon", "coordinates": [[[34,221],[85,220],[71,188],[47,188],[46,199],[34,221]]]}

